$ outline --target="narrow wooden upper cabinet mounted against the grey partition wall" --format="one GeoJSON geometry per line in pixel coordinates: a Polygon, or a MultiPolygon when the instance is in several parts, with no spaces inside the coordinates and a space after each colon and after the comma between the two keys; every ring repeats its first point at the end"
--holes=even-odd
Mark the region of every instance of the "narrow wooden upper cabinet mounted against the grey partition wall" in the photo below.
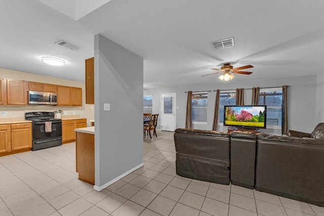
{"type": "Polygon", "coordinates": [[[86,59],[86,104],[95,104],[95,58],[86,59]]]}

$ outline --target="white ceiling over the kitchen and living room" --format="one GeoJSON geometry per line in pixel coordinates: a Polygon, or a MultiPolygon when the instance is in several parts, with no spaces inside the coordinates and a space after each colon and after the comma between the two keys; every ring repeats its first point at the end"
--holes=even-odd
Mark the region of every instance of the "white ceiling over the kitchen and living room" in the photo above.
{"type": "Polygon", "coordinates": [[[146,89],[220,83],[217,75],[201,75],[224,62],[254,66],[246,69],[251,75],[231,81],[238,83],[322,73],[322,0],[97,0],[104,5],[75,19],[41,1],[55,2],[0,2],[0,68],[84,81],[84,60],[94,56],[94,35],[101,33],[144,58],[146,89]],[[212,48],[212,41],[229,37],[234,47],[212,48]],[[61,39],[82,49],[54,44],[61,39]],[[66,64],[48,66],[43,56],[66,64]]]}

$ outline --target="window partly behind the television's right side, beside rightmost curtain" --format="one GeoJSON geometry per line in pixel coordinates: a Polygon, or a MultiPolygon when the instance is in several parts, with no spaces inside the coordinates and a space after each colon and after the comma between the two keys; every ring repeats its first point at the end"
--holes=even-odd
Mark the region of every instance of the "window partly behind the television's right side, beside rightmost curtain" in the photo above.
{"type": "Polygon", "coordinates": [[[267,126],[281,127],[282,88],[260,89],[259,105],[267,105],[267,126]]]}

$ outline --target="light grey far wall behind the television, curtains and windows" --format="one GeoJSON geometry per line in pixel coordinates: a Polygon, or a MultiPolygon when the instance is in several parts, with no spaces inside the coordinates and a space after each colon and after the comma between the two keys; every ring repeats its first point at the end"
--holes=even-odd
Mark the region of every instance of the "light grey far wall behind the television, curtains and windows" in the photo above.
{"type": "MultiPolygon", "coordinates": [[[[312,132],[320,120],[315,118],[316,110],[316,76],[300,76],[290,78],[280,78],[272,80],[251,80],[245,83],[240,83],[238,77],[230,81],[228,84],[219,84],[214,86],[208,85],[188,85],[174,88],[164,89],[147,89],[144,90],[144,95],[153,95],[153,113],[160,113],[160,95],[161,93],[176,92],[177,94],[177,123],[176,128],[185,127],[187,91],[209,91],[208,92],[208,124],[193,124],[196,129],[211,129],[214,117],[214,106],[216,92],[214,90],[234,90],[236,88],[267,88],[281,87],[282,85],[290,85],[288,89],[288,127],[297,131],[312,132]],[[235,81],[236,79],[236,81],[235,81]]],[[[324,78],[322,78],[324,82],[324,78]]],[[[322,85],[321,91],[324,90],[322,85]]],[[[317,90],[319,91],[319,90],[317,90]]],[[[319,96],[318,96],[319,97],[319,96]]],[[[317,97],[317,98],[318,98],[317,97]]],[[[251,104],[252,90],[245,90],[245,105],[251,104]]],[[[322,100],[322,99],[321,99],[322,100]]],[[[321,105],[324,105],[322,100],[321,105]]],[[[321,106],[323,107],[323,106],[321,106]]],[[[319,109],[319,105],[317,107],[319,109]]],[[[318,111],[320,113],[320,111],[318,111]]],[[[322,116],[324,117],[324,116],[322,116]]],[[[159,124],[160,122],[158,122],[159,124]]],[[[160,128],[158,126],[158,128],[160,128]]],[[[218,126],[218,131],[227,131],[227,127],[218,126]]],[[[262,132],[269,134],[281,134],[281,129],[262,129],[262,132]]]]}

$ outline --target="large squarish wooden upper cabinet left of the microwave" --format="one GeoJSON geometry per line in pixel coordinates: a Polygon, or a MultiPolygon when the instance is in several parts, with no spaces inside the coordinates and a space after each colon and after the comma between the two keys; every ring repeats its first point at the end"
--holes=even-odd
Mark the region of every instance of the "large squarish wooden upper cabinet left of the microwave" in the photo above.
{"type": "Polygon", "coordinates": [[[7,79],[7,104],[27,105],[26,81],[7,79]]]}

